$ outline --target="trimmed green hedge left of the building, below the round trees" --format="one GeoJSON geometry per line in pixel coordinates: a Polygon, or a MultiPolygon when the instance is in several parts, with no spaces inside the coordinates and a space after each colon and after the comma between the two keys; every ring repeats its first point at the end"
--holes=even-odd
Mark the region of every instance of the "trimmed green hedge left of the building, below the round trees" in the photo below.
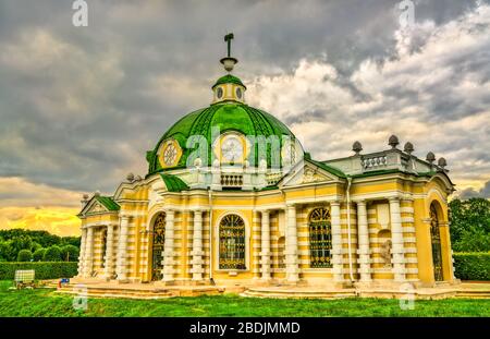
{"type": "Polygon", "coordinates": [[[76,262],[0,263],[0,280],[13,280],[15,270],[34,269],[36,279],[71,278],[77,274],[76,262]]]}

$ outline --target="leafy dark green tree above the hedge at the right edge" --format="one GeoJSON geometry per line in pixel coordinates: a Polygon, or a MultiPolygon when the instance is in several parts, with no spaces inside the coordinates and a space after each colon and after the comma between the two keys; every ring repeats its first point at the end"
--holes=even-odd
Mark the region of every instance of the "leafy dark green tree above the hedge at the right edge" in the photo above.
{"type": "Polygon", "coordinates": [[[490,251],[490,201],[453,199],[451,210],[451,242],[461,252],[490,251]]]}

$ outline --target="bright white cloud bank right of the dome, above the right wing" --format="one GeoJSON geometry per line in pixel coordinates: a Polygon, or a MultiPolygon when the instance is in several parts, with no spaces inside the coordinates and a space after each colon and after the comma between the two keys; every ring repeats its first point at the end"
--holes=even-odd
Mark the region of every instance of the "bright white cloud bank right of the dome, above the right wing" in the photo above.
{"type": "Polygon", "coordinates": [[[460,187],[490,177],[490,7],[437,26],[396,31],[392,56],[367,58],[348,78],[324,60],[258,76],[254,104],[289,122],[316,157],[345,156],[355,140],[387,147],[391,133],[448,159],[460,187]]]}

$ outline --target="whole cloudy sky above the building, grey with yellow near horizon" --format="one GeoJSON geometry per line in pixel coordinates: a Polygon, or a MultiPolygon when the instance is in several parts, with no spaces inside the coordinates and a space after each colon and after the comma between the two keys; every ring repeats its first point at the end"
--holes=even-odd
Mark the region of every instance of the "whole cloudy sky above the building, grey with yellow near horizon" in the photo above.
{"type": "Polygon", "coordinates": [[[83,193],[144,175],[210,102],[228,32],[248,102],[315,158],[394,133],[445,157],[457,194],[490,196],[488,1],[414,0],[408,25],[397,0],[87,2],[75,27],[72,0],[0,0],[0,228],[76,230],[83,193]]]}

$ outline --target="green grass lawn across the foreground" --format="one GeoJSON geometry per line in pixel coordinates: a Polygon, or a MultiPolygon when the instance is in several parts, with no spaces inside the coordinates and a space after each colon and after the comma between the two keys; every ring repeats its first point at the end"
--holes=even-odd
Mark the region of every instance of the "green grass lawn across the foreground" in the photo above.
{"type": "Polygon", "coordinates": [[[94,299],[87,311],[73,307],[73,296],[52,289],[9,290],[0,281],[0,316],[490,316],[490,300],[445,299],[415,301],[403,311],[399,300],[278,300],[237,295],[172,298],[163,300],[94,299]]]}

